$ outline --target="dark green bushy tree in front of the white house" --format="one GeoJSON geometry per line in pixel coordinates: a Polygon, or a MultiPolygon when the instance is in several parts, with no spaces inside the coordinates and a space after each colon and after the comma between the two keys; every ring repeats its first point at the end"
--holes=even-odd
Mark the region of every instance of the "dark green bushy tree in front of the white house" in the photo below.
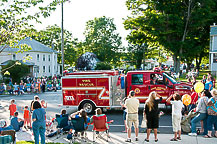
{"type": "Polygon", "coordinates": [[[3,69],[7,69],[9,72],[9,75],[4,75],[4,72],[2,71],[2,75],[4,75],[4,77],[10,77],[12,78],[13,82],[18,83],[22,77],[30,73],[29,67],[27,65],[23,63],[16,64],[16,61],[9,61],[6,66],[3,66],[3,69]]]}

